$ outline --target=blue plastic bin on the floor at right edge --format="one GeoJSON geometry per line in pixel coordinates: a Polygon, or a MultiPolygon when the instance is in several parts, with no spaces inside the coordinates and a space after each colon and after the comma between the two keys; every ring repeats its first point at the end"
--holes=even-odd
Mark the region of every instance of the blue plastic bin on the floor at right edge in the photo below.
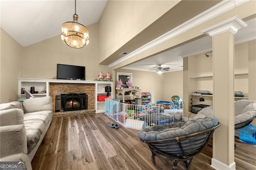
{"type": "Polygon", "coordinates": [[[251,145],[256,145],[256,127],[249,124],[239,129],[239,140],[251,145]]]}

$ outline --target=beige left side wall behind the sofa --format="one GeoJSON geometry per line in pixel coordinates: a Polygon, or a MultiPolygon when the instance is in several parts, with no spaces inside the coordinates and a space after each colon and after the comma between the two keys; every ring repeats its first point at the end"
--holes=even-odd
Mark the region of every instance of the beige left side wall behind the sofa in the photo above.
{"type": "Polygon", "coordinates": [[[16,100],[18,96],[17,77],[22,68],[22,47],[6,31],[0,29],[0,103],[6,103],[16,100]]]}

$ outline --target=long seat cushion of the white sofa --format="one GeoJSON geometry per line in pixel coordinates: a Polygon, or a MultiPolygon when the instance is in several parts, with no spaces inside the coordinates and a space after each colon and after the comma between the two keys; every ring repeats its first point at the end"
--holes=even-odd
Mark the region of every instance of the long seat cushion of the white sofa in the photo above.
{"type": "MultiPolygon", "coordinates": [[[[34,99],[32,99],[34,100],[34,99]]],[[[36,147],[46,125],[52,120],[52,111],[24,113],[24,125],[27,134],[28,154],[36,147]]]]}

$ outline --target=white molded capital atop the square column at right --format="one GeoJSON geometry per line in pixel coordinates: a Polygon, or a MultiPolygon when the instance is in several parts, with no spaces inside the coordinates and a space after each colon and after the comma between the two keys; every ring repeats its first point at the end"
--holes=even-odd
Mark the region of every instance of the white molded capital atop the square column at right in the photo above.
{"type": "Polygon", "coordinates": [[[216,25],[208,27],[202,30],[201,32],[213,37],[215,35],[224,33],[226,31],[230,31],[231,33],[235,34],[237,33],[238,29],[246,26],[247,26],[247,23],[245,23],[238,16],[234,16],[232,18],[229,18],[228,20],[222,21],[220,23],[217,23],[216,25]]]}

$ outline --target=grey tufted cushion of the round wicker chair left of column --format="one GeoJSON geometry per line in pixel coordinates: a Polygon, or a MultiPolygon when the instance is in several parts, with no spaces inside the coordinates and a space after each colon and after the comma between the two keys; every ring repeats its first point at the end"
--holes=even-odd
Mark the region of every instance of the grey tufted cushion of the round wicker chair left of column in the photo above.
{"type": "Polygon", "coordinates": [[[138,137],[143,141],[154,141],[180,137],[200,132],[218,124],[218,119],[213,115],[204,118],[192,119],[184,122],[154,125],[138,132],[138,137]]]}

